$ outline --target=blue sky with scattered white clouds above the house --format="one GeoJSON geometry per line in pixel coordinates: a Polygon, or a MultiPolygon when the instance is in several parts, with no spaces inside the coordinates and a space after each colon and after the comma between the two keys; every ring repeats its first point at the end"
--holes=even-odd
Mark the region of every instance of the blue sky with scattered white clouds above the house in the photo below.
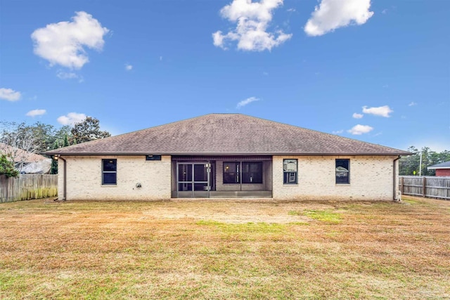
{"type": "Polygon", "coordinates": [[[450,150],[450,1],[0,0],[0,119],[242,113],[450,150]]]}

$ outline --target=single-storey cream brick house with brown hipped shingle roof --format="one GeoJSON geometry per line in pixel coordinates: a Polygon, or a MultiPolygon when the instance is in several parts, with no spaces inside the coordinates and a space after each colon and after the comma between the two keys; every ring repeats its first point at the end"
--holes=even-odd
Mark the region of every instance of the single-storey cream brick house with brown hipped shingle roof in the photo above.
{"type": "Polygon", "coordinates": [[[211,114],[45,152],[65,200],[392,200],[410,152],[240,114],[211,114]]]}

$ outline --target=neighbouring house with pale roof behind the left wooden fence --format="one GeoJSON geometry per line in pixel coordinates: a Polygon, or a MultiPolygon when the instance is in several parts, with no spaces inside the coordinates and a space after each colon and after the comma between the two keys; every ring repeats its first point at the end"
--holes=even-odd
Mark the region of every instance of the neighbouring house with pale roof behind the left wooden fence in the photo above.
{"type": "Polygon", "coordinates": [[[0,143],[0,155],[6,155],[14,161],[14,167],[21,174],[49,174],[51,159],[37,153],[0,143]]]}

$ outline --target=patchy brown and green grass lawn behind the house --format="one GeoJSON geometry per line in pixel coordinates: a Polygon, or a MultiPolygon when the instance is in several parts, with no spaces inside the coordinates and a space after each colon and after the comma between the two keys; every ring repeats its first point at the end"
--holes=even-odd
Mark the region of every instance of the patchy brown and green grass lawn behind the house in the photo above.
{"type": "Polygon", "coordinates": [[[0,299],[450,299],[450,202],[0,204],[0,299]]]}

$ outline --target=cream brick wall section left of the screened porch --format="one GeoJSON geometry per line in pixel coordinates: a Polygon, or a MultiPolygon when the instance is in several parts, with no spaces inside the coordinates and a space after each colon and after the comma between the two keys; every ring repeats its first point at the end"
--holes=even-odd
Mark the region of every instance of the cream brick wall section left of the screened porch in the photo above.
{"type": "MultiPolygon", "coordinates": [[[[65,156],[67,200],[161,200],[170,198],[171,157],[145,155],[65,156]],[[117,185],[102,185],[102,159],[117,159],[117,185]],[[141,188],[136,188],[141,183],[141,188]]],[[[58,198],[63,199],[63,160],[58,164],[58,198]]]]}

